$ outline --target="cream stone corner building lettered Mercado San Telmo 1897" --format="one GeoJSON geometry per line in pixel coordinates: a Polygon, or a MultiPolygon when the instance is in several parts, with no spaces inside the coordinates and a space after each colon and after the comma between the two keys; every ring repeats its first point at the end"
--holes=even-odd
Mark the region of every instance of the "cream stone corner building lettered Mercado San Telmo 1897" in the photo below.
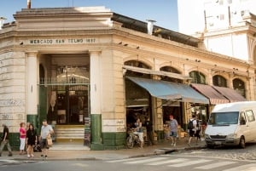
{"type": "Polygon", "coordinates": [[[255,66],[207,51],[199,38],[105,7],[21,9],[0,30],[0,123],[18,145],[20,122],[47,118],[56,142],[125,147],[137,117],[158,140],[170,114],[255,100],[255,66]]]}

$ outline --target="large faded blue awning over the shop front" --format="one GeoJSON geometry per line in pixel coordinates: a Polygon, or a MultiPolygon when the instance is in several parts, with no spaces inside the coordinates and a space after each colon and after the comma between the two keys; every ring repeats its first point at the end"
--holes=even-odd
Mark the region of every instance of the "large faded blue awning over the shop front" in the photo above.
{"type": "Polygon", "coordinates": [[[199,94],[195,89],[183,83],[172,83],[160,80],[146,79],[141,77],[127,77],[132,82],[145,88],[149,94],[156,98],[166,100],[179,100],[191,103],[209,104],[206,97],[199,94]]]}

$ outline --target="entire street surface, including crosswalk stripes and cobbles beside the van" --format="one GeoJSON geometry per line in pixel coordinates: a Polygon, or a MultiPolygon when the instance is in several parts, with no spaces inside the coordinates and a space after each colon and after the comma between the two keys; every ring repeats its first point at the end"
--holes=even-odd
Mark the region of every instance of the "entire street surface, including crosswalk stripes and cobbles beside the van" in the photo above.
{"type": "MultiPolygon", "coordinates": [[[[104,151],[102,151],[103,153],[104,151]]],[[[214,149],[181,150],[172,153],[145,156],[106,159],[63,159],[45,160],[8,159],[0,157],[1,171],[253,171],[256,170],[256,144],[247,144],[246,149],[237,147],[218,147],[214,149]]]]}

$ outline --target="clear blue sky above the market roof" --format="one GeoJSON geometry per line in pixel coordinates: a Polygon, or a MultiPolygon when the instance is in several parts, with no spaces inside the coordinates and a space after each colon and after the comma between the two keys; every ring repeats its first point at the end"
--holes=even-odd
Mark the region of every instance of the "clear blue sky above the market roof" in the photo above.
{"type": "MultiPolygon", "coordinates": [[[[156,26],[177,31],[177,0],[31,0],[32,9],[105,6],[112,12],[136,20],[155,20],[156,26]]],[[[26,0],[2,0],[0,17],[14,21],[13,14],[26,9],[26,0]]]]}

